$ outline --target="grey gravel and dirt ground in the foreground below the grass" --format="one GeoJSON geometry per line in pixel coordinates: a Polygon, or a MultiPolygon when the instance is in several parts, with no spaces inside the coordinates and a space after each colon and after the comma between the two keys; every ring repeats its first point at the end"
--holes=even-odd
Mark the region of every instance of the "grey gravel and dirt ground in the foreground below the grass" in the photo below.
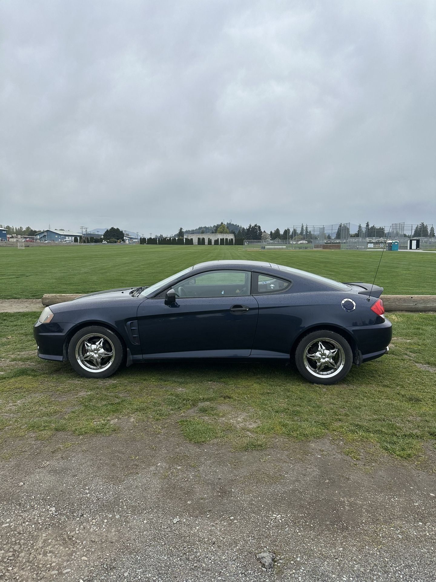
{"type": "Polygon", "coordinates": [[[419,470],[327,439],[242,453],[133,423],[15,450],[0,580],[435,580],[434,451],[419,470]]]}

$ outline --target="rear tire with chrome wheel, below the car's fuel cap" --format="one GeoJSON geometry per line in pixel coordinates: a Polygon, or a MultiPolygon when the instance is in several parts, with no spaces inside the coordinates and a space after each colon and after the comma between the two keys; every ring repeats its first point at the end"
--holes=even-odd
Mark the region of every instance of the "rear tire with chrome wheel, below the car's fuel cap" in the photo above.
{"type": "Polygon", "coordinates": [[[305,335],[295,350],[300,374],[313,384],[336,384],[350,371],[353,352],[339,333],[319,329],[305,335]]]}

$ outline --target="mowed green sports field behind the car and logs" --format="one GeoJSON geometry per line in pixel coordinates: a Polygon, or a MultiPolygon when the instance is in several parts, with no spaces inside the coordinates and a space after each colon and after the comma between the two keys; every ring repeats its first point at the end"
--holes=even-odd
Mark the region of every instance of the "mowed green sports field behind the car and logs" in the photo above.
{"type": "MultiPolygon", "coordinates": [[[[0,299],[149,285],[197,262],[271,261],[338,281],[372,282],[378,251],[249,250],[226,246],[80,245],[0,248],[0,299]]],[[[436,254],[386,252],[378,285],[388,294],[436,293],[436,254]]]]}

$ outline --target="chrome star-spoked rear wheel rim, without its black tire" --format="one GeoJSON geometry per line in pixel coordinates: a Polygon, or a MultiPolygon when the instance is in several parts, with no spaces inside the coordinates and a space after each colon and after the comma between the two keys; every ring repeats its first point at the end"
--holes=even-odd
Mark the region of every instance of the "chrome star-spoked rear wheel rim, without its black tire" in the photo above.
{"type": "Polygon", "coordinates": [[[306,347],[303,362],[310,374],[318,378],[332,377],[344,367],[345,352],[334,339],[319,338],[306,347]]]}

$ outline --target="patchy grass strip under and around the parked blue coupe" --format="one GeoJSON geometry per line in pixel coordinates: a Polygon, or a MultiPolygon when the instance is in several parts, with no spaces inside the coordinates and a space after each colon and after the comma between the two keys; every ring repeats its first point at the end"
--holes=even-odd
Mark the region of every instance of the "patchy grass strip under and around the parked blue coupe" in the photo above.
{"type": "Polygon", "coordinates": [[[353,366],[344,382],[317,386],[283,364],[165,363],[124,368],[108,379],[78,376],[69,364],[39,360],[36,313],[0,314],[0,457],[26,438],[68,431],[109,434],[124,423],[233,449],[276,437],[330,435],[358,459],[370,445],[408,458],[436,438],[436,315],[391,314],[391,353],[353,366]]]}

